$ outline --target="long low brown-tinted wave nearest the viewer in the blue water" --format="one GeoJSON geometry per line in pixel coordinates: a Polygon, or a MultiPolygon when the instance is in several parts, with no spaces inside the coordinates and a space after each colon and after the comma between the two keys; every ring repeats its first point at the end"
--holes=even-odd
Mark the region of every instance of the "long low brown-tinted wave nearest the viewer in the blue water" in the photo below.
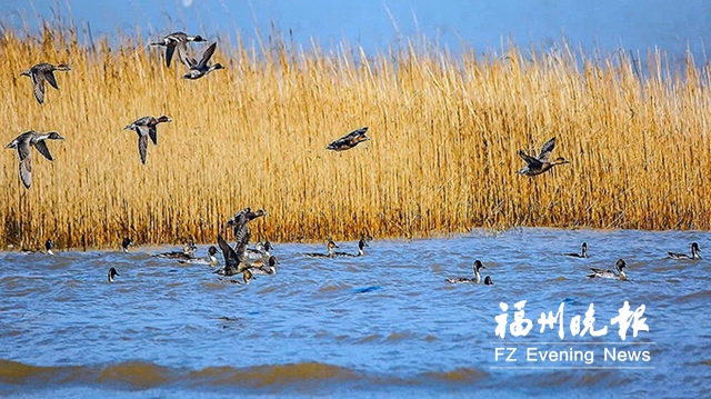
{"type": "Polygon", "coordinates": [[[253,366],[246,368],[207,367],[201,370],[171,368],[144,361],[98,366],[30,366],[0,360],[0,387],[99,386],[143,390],[166,386],[187,388],[231,387],[279,389],[296,385],[322,387],[342,383],[370,386],[417,386],[422,383],[472,383],[485,379],[487,371],[460,368],[422,372],[412,377],[372,375],[321,362],[253,366]]]}

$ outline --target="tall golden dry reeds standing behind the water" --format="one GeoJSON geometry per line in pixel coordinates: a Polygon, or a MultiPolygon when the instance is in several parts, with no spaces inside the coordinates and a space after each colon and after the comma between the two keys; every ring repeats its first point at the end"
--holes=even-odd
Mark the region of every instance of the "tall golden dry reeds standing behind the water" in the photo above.
{"type": "Polygon", "coordinates": [[[271,38],[220,42],[212,61],[227,69],[188,81],[139,34],[82,46],[73,29],[3,32],[3,146],[30,129],[66,140],[48,142],[54,162],[32,150],[29,190],[14,150],[2,152],[2,248],[50,237],[60,248],[118,248],[123,236],[214,242],[248,206],[269,211],[253,240],[273,241],[711,228],[709,70],[691,59],[414,43],[365,57],[348,43],[303,50],[271,38]],[[48,87],[40,106],[20,72],[42,61],[72,70],[56,72],[60,91],[48,87]],[[137,134],[122,129],[161,114],[173,122],[141,164],[137,134]],[[371,141],[326,150],[363,126],[371,141]],[[552,158],[571,163],[517,176],[517,151],[551,137],[552,158]]]}

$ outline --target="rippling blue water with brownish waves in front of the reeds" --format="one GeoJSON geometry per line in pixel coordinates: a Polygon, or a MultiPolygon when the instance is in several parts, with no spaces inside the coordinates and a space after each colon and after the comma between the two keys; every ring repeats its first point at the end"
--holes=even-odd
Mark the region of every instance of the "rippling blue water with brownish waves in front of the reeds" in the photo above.
{"type": "MultiPolygon", "coordinates": [[[[708,232],[474,231],[375,240],[367,256],[352,259],[306,258],[324,246],[279,243],[277,276],[249,286],[223,283],[207,266],[150,257],[169,248],[0,252],[0,396],[700,398],[711,389],[711,268],[664,256],[688,252],[691,241],[703,251],[710,239],[708,232]],[[582,241],[591,258],[561,256],[582,241]],[[589,267],[612,269],[620,257],[630,281],[585,279],[589,267]],[[495,286],[444,282],[470,276],[474,259],[495,286]],[[110,267],[121,273],[112,285],[110,267]],[[510,306],[511,321],[520,300],[528,301],[533,329],[497,337],[499,303],[510,306]],[[649,332],[633,338],[629,330],[624,345],[604,345],[621,341],[610,319],[624,301],[632,310],[647,307],[649,332]],[[561,302],[563,340],[558,327],[539,332],[537,322],[561,302]],[[570,318],[591,302],[595,329],[608,326],[608,335],[571,337],[570,318]],[[519,361],[497,361],[497,347],[517,347],[519,361]],[[594,362],[527,362],[521,352],[531,347],[592,350],[594,362]],[[603,348],[647,350],[650,360],[604,361],[603,348]],[[512,365],[531,368],[500,368],[512,365]]],[[[356,252],[356,242],[340,247],[356,252]]]]}

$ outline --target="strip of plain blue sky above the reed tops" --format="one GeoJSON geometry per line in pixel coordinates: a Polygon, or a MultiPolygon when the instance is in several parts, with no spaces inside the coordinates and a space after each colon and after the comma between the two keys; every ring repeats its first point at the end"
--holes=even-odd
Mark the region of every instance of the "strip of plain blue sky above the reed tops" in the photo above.
{"type": "Polygon", "coordinates": [[[239,31],[250,40],[273,22],[304,47],[312,38],[326,48],[347,39],[367,51],[418,33],[478,51],[500,48],[502,38],[540,47],[564,37],[585,51],[660,48],[677,56],[690,47],[698,58],[711,46],[711,2],[702,0],[0,0],[0,21],[34,28],[36,16],[51,18],[54,10],[88,21],[94,36],[140,27],[151,36],[239,31]]]}

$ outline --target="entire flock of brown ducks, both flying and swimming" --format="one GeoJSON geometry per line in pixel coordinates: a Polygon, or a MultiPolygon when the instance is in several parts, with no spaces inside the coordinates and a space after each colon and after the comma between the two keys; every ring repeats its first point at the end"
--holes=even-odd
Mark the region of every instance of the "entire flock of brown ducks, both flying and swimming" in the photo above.
{"type": "MultiPolygon", "coordinates": [[[[183,74],[183,79],[197,80],[209,74],[212,71],[224,69],[224,67],[219,62],[210,63],[210,60],[217,49],[217,42],[208,46],[202,51],[200,61],[190,56],[188,43],[204,41],[207,40],[200,36],[189,36],[183,32],[174,32],[163,37],[161,41],[153,42],[150,46],[159,46],[166,48],[164,59],[166,66],[168,68],[170,68],[171,60],[173,59],[173,54],[177,51],[180,62],[188,68],[186,74],[183,74]]],[[[34,94],[34,98],[37,99],[37,102],[42,104],[44,102],[46,82],[56,90],[59,90],[54,72],[66,72],[70,70],[71,68],[66,63],[54,66],[51,63],[42,62],[23,71],[21,76],[27,76],[32,80],[32,92],[34,94]]],[[[153,142],[153,144],[158,144],[158,124],[171,121],[172,119],[170,119],[168,116],[161,116],[158,118],[148,116],[134,120],[124,128],[124,130],[132,130],[138,134],[138,150],[140,160],[143,164],[147,160],[149,139],[153,142]]],[[[352,149],[359,143],[370,140],[370,138],[367,136],[367,127],[353,130],[352,132],[329,143],[327,146],[327,149],[332,151],[344,151],[352,149]]],[[[30,130],[19,134],[7,146],[7,148],[14,149],[17,151],[18,158],[20,160],[20,180],[27,189],[30,188],[32,182],[32,158],[30,148],[33,147],[44,158],[52,161],[53,158],[47,146],[47,140],[63,139],[64,138],[56,131],[39,133],[34,130],[30,130]]],[[[517,173],[534,177],[551,170],[555,166],[570,163],[570,161],[562,157],[558,157],[552,161],[550,160],[550,156],[554,147],[555,138],[552,138],[542,146],[538,156],[528,154],[523,150],[519,150],[518,154],[525,162],[525,166],[519,169],[517,173]]],[[[266,215],[267,212],[262,209],[252,211],[250,208],[246,208],[236,213],[231,219],[228,220],[227,223],[227,227],[232,228],[232,231],[234,233],[234,246],[230,246],[221,235],[218,235],[218,246],[210,246],[208,248],[206,258],[194,257],[197,247],[193,242],[186,245],[182,251],[157,253],[154,256],[158,258],[176,259],[181,263],[207,265],[210,267],[217,267],[219,265],[219,260],[217,258],[219,247],[224,259],[224,267],[214,271],[216,273],[222,277],[242,275],[243,283],[249,283],[249,281],[253,279],[254,275],[273,276],[277,273],[277,266],[279,265],[279,260],[270,253],[270,250],[272,249],[271,243],[269,241],[264,241],[257,243],[256,248],[248,248],[249,240],[251,238],[251,232],[248,226],[249,222],[266,215]]],[[[329,238],[327,242],[327,253],[304,253],[304,256],[311,258],[360,257],[364,255],[364,248],[369,246],[368,241],[369,239],[367,239],[365,237],[361,238],[358,246],[358,252],[349,253],[333,251],[333,249],[338,248],[338,246],[332,239],[329,238]]],[[[128,248],[131,245],[133,245],[133,241],[130,238],[124,238],[121,247],[123,251],[128,251],[128,248]]],[[[53,255],[52,248],[54,247],[54,242],[52,240],[47,240],[44,247],[47,253],[53,255]]],[[[672,259],[701,259],[699,252],[699,245],[697,242],[693,242],[691,245],[691,255],[669,252],[669,257],[672,259]]],[[[581,253],[565,255],[577,258],[587,258],[588,245],[585,242],[582,243],[581,253]]],[[[449,283],[478,285],[482,281],[480,270],[485,268],[487,267],[480,260],[475,260],[473,263],[472,278],[448,278],[445,281],[449,283]]],[[[592,273],[589,275],[588,278],[612,278],[618,280],[627,280],[627,273],[623,270],[624,268],[627,268],[624,260],[619,259],[615,263],[615,271],[592,268],[592,273]]],[[[118,270],[116,270],[116,268],[111,268],[108,273],[109,282],[113,282],[118,276],[120,276],[118,270]]],[[[239,280],[226,281],[241,283],[239,280]]],[[[493,286],[492,278],[490,276],[487,276],[483,279],[483,285],[493,286]]]]}

